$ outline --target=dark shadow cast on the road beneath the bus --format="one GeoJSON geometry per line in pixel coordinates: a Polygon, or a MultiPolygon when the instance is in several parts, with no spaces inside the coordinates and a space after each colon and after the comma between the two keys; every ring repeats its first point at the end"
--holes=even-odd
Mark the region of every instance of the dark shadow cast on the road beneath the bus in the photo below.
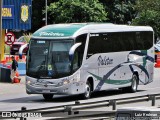
{"type": "MultiPolygon", "coordinates": [[[[145,90],[138,90],[137,92],[143,92],[145,90]]],[[[121,95],[121,94],[134,94],[134,93],[127,93],[126,91],[123,90],[109,90],[109,91],[100,91],[100,92],[95,92],[92,94],[90,99],[94,98],[100,98],[100,97],[111,97],[114,95],[121,95]]],[[[54,96],[52,100],[46,101],[43,99],[42,95],[37,95],[37,96],[29,96],[28,97],[23,97],[23,98],[14,98],[14,99],[8,99],[8,100],[1,100],[1,102],[8,102],[8,103],[64,103],[64,102],[74,102],[76,100],[83,100],[81,95],[73,95],[73,96],[54,96]]]]}

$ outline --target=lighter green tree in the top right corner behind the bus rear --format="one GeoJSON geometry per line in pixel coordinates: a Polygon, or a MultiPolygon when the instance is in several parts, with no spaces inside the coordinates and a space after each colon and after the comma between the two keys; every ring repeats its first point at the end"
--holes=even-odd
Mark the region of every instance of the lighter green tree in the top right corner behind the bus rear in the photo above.
{"type": "Polygon", "coordinates": [[[160,0],[137,0],[135,8],[137,17],[133,25],[149,25],[155,31],[155,37],[160,36],[160,0]]]}

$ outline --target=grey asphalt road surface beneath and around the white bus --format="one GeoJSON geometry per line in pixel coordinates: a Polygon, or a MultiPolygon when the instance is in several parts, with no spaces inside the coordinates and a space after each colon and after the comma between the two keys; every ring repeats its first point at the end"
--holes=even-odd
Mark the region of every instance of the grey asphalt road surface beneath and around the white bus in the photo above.
{"type": "MultiPolygon", "coordinates": [[[[22,77],[22,79],[24,79],[22,77]]],[[[54,96],[51,101],[45,101],[41,95],[28,95],[25,92],[25,84],[22,81],[20,84],[0,83],[0,111],[14,111],[20,110],[22,106],[27,109],[43,108],[59,105],[67,105],[75,103],[75,100],[80,99],[81,103],[100,101],[116,98],[126,98],[133,96],[140,96],[146,94],[160,93],[160,68],[156,68],[154,72],[154,81],[148,85],[138,86],[138,92],[127,93],[122,90],[110,90],[97,92],[88,100],[82,100],[79,96],[54,96]]],[[[148,106],[151,103],[141,104],[148,106]]],[[[133,106],[139,106],[134,103],[133,106]]],[[[160,105],[160,100],[156,101],[156,106],[160,105]]],[[[124,105],[123,105],[124,106],[124,105]]]]}

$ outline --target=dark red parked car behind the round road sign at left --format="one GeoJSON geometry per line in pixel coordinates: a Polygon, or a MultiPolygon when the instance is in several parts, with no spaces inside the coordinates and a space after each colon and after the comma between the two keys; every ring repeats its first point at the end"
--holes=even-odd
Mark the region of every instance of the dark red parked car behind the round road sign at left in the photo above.
{"type": "MultiPolygon", "coordinates": [[[[13,45],[11,46],[11,49],[10,49],[10,54],[11,55],[18,54],[20,47],[27,43],[25,37],[26,36],[21,36],[16,42],[13,43],[13,45]]],[[[27,51],[28,51],[28,47],[26,47],[23,50],[23,54],[27,54],[27,51]]]]}

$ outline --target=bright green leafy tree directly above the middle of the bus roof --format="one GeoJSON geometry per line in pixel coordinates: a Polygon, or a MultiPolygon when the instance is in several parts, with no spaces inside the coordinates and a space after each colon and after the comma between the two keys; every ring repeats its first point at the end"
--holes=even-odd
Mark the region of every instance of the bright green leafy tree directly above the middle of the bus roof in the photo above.
{"type": "Polygon", "coordinates": [[[98,0],[59,0],[48,7],[49,23],[103,22],[107,12],[98,0]]]}

